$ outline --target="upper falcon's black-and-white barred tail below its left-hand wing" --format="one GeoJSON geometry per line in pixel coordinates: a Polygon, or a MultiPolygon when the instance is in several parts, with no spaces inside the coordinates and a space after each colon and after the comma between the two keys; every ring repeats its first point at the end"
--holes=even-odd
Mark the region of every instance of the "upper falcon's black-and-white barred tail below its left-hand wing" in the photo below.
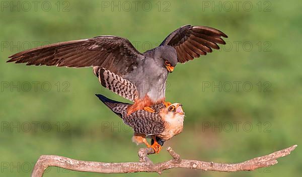
{"type": "Polygon", "coordinates": [[[131,81],[102,67],[94,67],[94,73],[110,91],[132,102],[137,98],[137,88],[131,81]]]}

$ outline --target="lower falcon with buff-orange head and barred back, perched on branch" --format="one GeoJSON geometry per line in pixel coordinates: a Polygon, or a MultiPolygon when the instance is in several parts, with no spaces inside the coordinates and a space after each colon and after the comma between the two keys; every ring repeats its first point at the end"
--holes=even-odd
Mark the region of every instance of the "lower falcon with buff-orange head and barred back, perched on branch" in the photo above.
{"type": "Polygon", "coordinates": [[[160,103],[152,106],[153,113],[138,110],[128,115],[127,110],[131,106],[130,104],[113,101],[103,95],[96,94],[96,96],[133,129],[133,142],[137,145],[144,143],[147,147],[152,147],[155,153],[161,151],[165,141],[183,130],[185,113],[179,103],[171,104],[168,107],[160,103]],[[146,138],[152,138],[152,145],[147,142],[146,138]]]}

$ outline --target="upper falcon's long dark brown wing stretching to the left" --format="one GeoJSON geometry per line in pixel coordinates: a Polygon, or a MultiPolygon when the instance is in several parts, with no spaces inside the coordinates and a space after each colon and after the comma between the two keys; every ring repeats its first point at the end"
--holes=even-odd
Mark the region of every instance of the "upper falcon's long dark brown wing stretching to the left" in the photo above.
{"type": "Polygon", "coordinates": [[[60,42],[16,53],[7,62],[26,65],[56,65],[66,67],[101,66],[123,75],[132,71],[142,59],[134,46],[116,36],[99,36],[90,39],[60,42]]]}

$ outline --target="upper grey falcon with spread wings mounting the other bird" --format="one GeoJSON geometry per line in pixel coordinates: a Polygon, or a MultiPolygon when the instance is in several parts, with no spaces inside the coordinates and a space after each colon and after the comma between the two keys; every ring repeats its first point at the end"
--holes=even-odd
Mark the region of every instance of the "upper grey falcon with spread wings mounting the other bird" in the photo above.
{"type": "Polygon", "coordinates": [[[10,56],[7,62],[93,67],[104,87],[134,102],[127,110],[130,115],[137,110],[154,112],[150,107],[159,103],[171,105],[165,98],[168,73],[173,72],[177,63],[219,49],[217,44],[225,44],[222,37],[228,36],[214,28],[186,25],[144,53],[125,38],[98,36],[29,49],[10,56]]]}

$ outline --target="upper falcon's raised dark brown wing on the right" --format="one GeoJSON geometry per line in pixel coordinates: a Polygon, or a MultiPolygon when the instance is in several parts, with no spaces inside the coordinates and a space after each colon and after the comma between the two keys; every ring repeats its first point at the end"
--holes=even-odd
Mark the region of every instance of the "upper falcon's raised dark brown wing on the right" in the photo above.
{"type": "Polygon", "coordinates": [[[219,49],[217,44],[225,44],[221,37],[228,36],[214,28],[186,25],[172,32],[161,45],[174,47],[178,62],[185,63],[219,49]]]}

